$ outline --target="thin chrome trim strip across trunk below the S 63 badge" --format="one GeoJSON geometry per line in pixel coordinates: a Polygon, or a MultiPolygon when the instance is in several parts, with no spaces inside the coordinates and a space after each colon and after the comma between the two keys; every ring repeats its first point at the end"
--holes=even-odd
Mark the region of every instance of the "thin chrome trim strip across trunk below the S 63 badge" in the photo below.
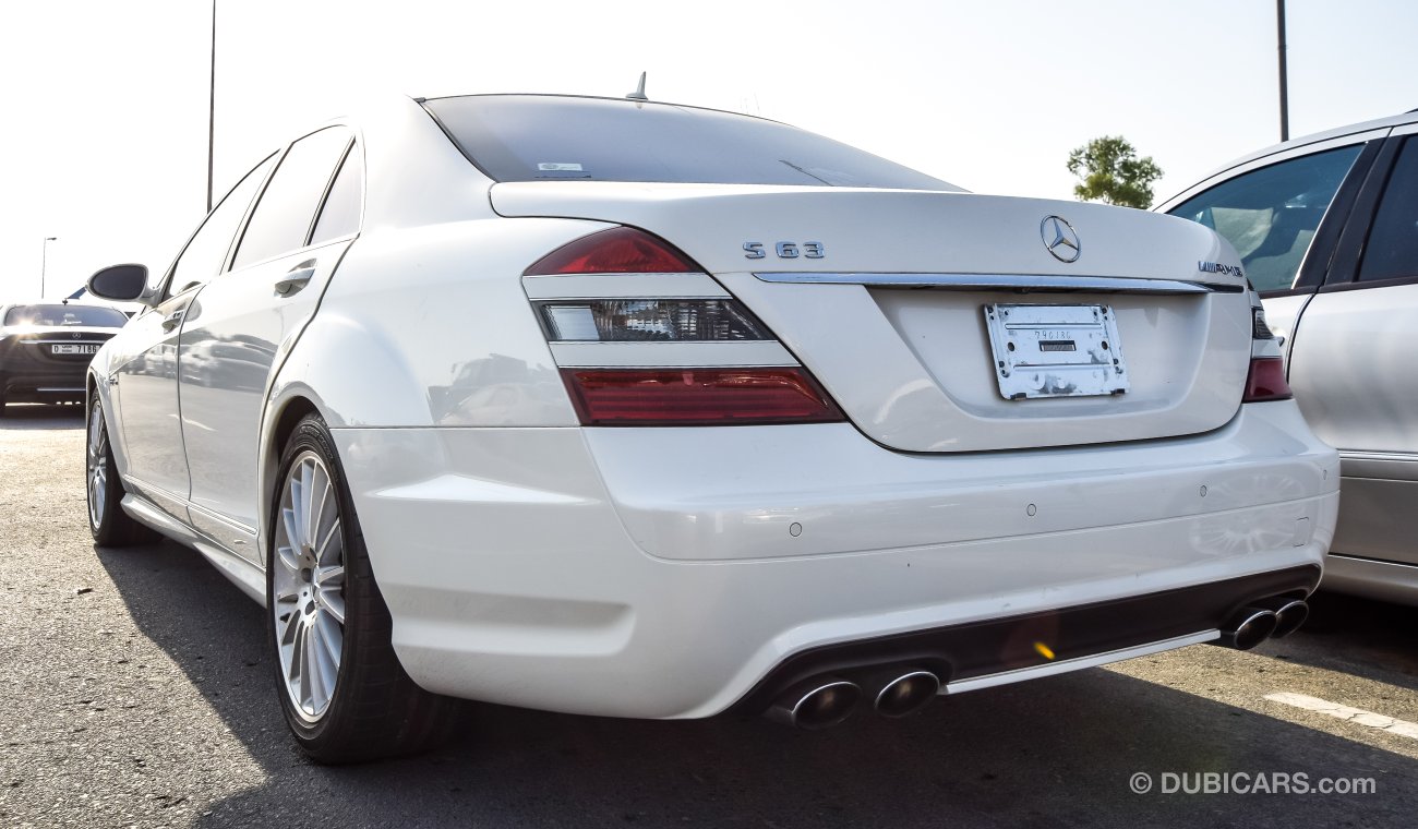
{"type": "Polygon", "coordinates": [[[1245,285],[1184,282],[1132,276],[1059,276],[1046,273],[753,273],[761,282],[865,285],[866,288],[942,288],[947,291],[1056,291],[1103,293],[1244,293],[1245,285]]]}

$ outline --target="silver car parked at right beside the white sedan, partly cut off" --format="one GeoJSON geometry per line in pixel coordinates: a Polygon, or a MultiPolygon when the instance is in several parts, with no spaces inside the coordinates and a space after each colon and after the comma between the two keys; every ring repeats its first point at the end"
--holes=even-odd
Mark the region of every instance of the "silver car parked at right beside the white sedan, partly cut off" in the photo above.
{"type": "Polygon", "coordinates": [[[1238,159],[1157,210],[1235,245],[1340,451],[1323,587],[1418,604],[1418,111],[1238,159]]]}

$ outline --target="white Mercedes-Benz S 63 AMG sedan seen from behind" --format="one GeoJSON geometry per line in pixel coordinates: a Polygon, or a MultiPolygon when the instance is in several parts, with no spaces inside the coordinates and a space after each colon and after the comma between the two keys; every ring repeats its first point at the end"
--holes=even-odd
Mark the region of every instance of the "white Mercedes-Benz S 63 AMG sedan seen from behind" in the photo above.
{"type": "Polygon", "coordinates": [[[1229,244],[644,101],[257,164],[88,377],[99,544],[268,619],[328,762],[485,700],[822,727],[1305,616],[1339,459],[1229,244]]]}

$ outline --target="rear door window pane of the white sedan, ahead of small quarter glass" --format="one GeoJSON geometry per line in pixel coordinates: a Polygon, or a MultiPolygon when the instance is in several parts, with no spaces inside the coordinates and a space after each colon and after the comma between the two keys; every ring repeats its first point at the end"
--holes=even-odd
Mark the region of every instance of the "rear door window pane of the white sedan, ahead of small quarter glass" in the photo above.
{"type": "Polygon", "coordinates": [[[349,142],[347,130],[329,128],[291,146],[247,222],[233,268],[305,247],[315,210],[349,142]]]}

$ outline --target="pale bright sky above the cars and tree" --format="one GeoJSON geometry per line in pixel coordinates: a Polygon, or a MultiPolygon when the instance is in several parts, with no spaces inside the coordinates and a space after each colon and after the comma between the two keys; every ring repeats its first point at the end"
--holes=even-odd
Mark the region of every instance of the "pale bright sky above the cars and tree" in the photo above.
{"type": "MultiPolygon", "coordinates": [[[[216,197],[370,94],[569,92],[783,120],[980,193],[1157,200],[1279,140],[1273,0],[217,0],[216,197]]],[[[1288,0],[1290,135],[1418,108],[1418,3],[1288,0]]],[[[0,7],[0,302],[166,269],[206,211],[210,0],[0,7]],[[55,241],[45,242],[47,237],[55,241]]]]}

